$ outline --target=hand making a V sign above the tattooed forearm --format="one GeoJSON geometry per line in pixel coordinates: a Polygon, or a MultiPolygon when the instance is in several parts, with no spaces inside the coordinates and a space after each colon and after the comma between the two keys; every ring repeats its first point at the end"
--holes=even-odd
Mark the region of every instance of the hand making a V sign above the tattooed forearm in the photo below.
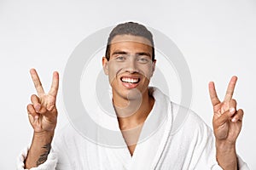
{"type": "Polygon", "coordinates": [[[57,121],[55,101],[59,88],[59,74],[58,72],[53,73],[52,85],[48,94],[44,93],[37,71],[32,69],[30,74],[38,95],[32,94],[32,104],[27,105],[29,122],[34,133],[53,132],[57,121]]]}

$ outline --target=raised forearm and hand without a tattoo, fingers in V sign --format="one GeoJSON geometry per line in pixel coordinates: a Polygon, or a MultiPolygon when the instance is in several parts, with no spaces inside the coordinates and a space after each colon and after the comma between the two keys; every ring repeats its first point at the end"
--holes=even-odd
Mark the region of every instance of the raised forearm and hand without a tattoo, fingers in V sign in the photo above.
{"type": "Polygon", "coordinates": [[[237,77],[232,77],[221,102],[218,99],[214,83],[209,83],[209,94],[213,106],[213,132],[216,144],[216,159],[224,170],[238,169],[236,139],[241,132],[243,111],[236,110],[236,100],[232,99],[237,77]]]}

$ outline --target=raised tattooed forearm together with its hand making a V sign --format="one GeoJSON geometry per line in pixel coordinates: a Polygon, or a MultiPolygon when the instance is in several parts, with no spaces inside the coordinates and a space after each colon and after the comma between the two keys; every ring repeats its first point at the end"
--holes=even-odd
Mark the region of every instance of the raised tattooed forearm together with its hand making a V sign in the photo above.
{"type": "Polygon", "coordinates": [[[25,161],[26,168],[38,167],[47,160],[57,122],[55,100],[59,87],[57,72],[53,74],[53,82],[48,94],[44,93],[37,71],[32,69],[30,73],[38,96],[33,94],[31,97],[32,104],[27,105],[29,122],[34,133],[25,161]]]}

